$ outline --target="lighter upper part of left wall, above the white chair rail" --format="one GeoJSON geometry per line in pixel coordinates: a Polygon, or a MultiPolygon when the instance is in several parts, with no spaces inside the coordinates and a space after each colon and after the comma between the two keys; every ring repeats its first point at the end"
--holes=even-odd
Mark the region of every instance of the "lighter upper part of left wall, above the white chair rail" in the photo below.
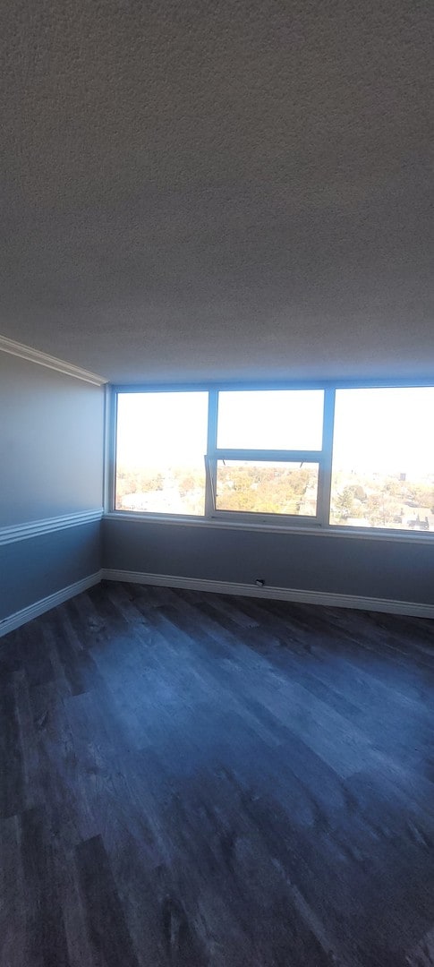
{"type": "Polygon", "coordinates": [[[0,414],[0,527],[101,507],[101,387],[0,352],[0,414]]]}

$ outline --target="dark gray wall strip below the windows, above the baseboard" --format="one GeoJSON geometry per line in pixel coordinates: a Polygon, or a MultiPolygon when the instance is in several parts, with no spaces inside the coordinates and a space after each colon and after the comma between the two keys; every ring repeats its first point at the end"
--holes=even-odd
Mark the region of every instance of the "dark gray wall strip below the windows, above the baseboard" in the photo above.
{"type": "Polygon", "coordinates": [[[107,517],[104,568],[434,604],[434,542],[180,526],[107,517]]]}

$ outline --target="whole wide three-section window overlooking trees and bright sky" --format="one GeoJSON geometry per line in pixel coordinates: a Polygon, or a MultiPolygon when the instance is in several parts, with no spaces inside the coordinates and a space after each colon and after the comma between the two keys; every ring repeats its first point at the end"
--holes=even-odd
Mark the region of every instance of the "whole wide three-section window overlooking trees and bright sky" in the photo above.
{"type": "Polygon", "coordinates": [[[434,386],[116,399],[116,511],[434,532],[434,386]]]}

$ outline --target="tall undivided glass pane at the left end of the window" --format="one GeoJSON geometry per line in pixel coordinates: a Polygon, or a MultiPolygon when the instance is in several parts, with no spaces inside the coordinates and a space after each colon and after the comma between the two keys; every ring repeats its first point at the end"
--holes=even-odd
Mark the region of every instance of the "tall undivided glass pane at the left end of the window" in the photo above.
{"type": "Polygon", "coordinates": [[[117,511],[205,512],[207,393],[118,396],[117,511]]]}

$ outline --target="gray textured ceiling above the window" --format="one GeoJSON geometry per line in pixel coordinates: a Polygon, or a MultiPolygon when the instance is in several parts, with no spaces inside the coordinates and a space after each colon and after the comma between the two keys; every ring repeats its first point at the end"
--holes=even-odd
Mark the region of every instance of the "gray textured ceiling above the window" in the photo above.
{"type": "Polygon", "coordinates": [[[433,372],[430,0],[0,21],[1,333],[118,382],[433,372]]]}

